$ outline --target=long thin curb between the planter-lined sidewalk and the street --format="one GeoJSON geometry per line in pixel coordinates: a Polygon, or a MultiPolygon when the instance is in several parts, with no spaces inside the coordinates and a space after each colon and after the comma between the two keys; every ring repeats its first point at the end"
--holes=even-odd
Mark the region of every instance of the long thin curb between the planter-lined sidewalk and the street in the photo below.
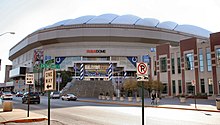
{"type": "MultiPolygon", "coordinates": [[[[115,105],[122,105],[122,106],[142,106],[141,104],[128,104],[128,103],[120,103],[120,102],[101,102],[101,101],[93,101],[93,100],[78,100],[80,102],[92,102],[92,103],[98,103],[98,104],[115,104],[115,105]]],[[[166,109],[179,109],[179,110],[192,110],[192,111],[206,111],[206,112],[219,112],[220,110],[208,110],[208,109],[193,109],[193,108],[178,108],[178,107],[168,107],[168,106],[147,106],[144,107],[150,107],[150,108],[166,108],[166,109]]]]}

